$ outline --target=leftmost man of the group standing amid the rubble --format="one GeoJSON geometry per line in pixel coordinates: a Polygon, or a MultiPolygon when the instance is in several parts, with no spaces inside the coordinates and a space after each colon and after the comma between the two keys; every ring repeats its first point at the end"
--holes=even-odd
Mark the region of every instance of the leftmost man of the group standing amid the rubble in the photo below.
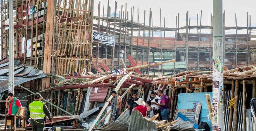
{"type": "Polygon", "coordinates": [[[113,98],[113,102],[109,101],[111,104],[111,109],[112,109],[112,116],[113,116],[113,121],[116,121],[116,119],[121,115],[122,111],[122,98],[118,96],[116,91],[111,91],[113,98]]]}

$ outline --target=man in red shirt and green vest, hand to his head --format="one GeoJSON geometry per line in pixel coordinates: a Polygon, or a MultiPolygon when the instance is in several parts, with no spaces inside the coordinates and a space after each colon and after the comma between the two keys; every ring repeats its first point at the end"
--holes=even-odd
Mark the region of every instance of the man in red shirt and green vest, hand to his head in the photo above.
{"type": "MultiPolygon", "coordinates": [[[[21,112],[21,102],[14,97],[12,93],[8,94],[5,102],[5,107],[8,108],[8,114],[19,115],[21,112]]],[[[16,121],[16,127],[19,127],[19,120],[16,121]]]]}

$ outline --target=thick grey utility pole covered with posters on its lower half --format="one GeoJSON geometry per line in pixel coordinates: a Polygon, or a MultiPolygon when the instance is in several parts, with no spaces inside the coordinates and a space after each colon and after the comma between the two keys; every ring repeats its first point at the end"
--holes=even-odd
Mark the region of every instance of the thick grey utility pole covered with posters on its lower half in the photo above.
{"type": "Polygon", "coordinates": [[[213,126],[224,130],[222,0],[213,0],[213,126]]]}

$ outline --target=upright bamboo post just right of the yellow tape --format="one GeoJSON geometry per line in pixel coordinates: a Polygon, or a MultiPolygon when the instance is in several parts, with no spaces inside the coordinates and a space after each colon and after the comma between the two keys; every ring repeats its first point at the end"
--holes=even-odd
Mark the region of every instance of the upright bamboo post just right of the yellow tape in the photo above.
{"type": "Polygon", "coordinates": [[[239,101],[239,81],[235,81],[235,108],[234,108],[234,126],[233,131],[237,131],[237,118],[238,118],[238,101],[239,101]]]}

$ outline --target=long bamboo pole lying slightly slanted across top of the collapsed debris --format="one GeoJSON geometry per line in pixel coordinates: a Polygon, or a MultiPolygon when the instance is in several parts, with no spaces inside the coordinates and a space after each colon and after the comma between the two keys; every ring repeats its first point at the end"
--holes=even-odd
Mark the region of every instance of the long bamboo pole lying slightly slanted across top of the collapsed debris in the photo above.
{"type": "MultiPolygon", "coordinates": [[[[130,67],[130,68],[127,68],[126,70],[130,71],[130,70],[145,68],[145,67],[149,67],[149,66],[156,66],[156,65],[160,65],[160,64],[164,64],[164,63],[174,62],[175,60],[176,59],[172,59],[172,60],[166,60],[163,62],[156,62],[156,63],[146,64],[146,65],[142,65],[142,66],[130,67]]],[[[98,73],[98,74],[92,74],[90,76],[106,75],[106,74],[110,74],[110,73],[111,73],[111,71],[107,71],[107,72],[102,72],[102,73],[98,73]]]]}

